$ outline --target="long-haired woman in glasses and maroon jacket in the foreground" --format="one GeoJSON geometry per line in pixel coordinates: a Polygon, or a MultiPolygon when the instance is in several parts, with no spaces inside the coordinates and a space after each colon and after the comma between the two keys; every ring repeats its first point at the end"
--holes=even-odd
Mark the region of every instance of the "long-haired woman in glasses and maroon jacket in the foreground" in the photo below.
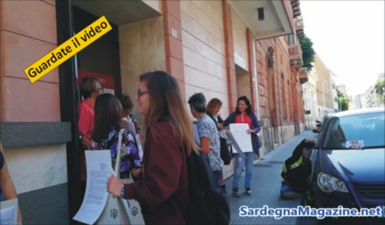
{"type": "Polygon", "coordinates": [[[176,80],[164,71],[140,75],[138,112],[147,127],[141,179],[123,184],[115,176],[107,191],[140,203],[146,224],[185,224],[188,204],[186,154],[198,150],[176,80]]]}

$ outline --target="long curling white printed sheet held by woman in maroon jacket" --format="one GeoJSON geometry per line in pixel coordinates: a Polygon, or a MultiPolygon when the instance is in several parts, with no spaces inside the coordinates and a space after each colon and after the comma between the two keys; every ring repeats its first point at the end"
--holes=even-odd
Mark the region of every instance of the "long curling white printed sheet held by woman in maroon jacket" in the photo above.
{"type": "Polygon", "coordinates": [[[107,179],[113,174],[110,150],[86,150],[87,183],[80,209],[74,220],[93,224],[107,201],[107,179]]]}

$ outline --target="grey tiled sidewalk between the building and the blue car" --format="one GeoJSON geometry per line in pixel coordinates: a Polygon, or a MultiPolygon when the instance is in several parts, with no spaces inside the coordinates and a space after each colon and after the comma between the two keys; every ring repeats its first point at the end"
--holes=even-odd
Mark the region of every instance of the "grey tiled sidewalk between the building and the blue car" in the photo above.
{"type": "Polygon", "coordinates": [[[240,197],[232,196],[232,176],[228,177],[224,183],[226,184],[227,194],[229,199],[231,220],[230,224],[317,224],[316,219],[301,218],[301,217],[282,217],[275,219],[274,217],[241,217],[239,216],[239,207],[247,205],[248,207],[263,207],[267,205],[270,208],[276,207],[296,207],[300,204],[300,199],[287,200],[279,195],[282,177],[280,176],[283,161],[288,158],[295,146],[303,139],[313,137],[316,134],[309,130],[294,136],[292,139],[283,143],[278,148],[270,151],[263,156],[261,160],[254,164],[251,196],[244,193],[244,174],[240,178],[240,197]]]}

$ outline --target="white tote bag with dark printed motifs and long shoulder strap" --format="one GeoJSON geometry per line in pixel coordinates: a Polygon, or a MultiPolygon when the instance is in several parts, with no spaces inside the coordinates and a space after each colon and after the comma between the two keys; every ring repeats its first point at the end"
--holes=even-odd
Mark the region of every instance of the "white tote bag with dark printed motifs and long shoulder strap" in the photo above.
{"type": "MultiPolygon", "coordinates": [[[[114,168],[114,173],[117,177],[119,177],[121,138],[123,131],[124,129],[120,129],[118,137],[118,149],[114,168]]],[[[125,183],[133,182],[131,176],[125,180],[125,183]]],[[[144,219],[141,214],[139,202],[133,199],[125,200],[116,197],[113,194],[108,194],[103,212],[100,214],[100,217],[95,224],[144,224],[144,219]]]]}

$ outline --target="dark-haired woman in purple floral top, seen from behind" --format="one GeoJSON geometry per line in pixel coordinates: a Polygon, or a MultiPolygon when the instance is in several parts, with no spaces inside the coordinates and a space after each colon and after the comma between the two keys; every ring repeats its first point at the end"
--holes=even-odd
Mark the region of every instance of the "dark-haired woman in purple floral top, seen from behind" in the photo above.
{"type": "MultiPolygon", "coordinates": [[[[112,168],[114,168],[121,128],[121,104],[112,94],[101,94],[96,98],[94,111],[95,120],[91,149],[109,149],[112,168]]],[[[136,177],[140,176],[141,158],[133,136],[126,130],[123,131],[120,151],[120,178],[128,178],[130,172],[136,177]]]]}

